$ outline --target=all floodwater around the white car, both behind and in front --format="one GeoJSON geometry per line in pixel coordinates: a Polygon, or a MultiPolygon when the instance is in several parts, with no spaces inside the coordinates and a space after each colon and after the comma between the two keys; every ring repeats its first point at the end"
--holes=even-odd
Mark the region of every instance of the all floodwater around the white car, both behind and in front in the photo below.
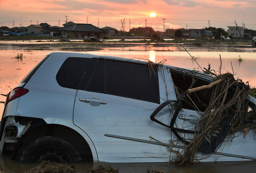
{"type": "MultiPolygon", "coordinates": [[[[69,43],[69,45],[65,45],[65,43],[52,44],[52,42],[40,43],[37,41],[0,41],[0,93],[7,94],[10,92],[46,54],[65,49],[96,55],[110,55],[142,60],[149,59],[156,63],[166,59],[165,63],[168,65],[200,70],[190,55],[177,44],[108,43],[104,46],[104,44],[83,45],[81,43],[69,43]],[[79,49],[77,49],[78,47],[79,49]],[[17,53],[23,54],[22,60],[14,58],[17,53]]],[[[220,68],[221,55],[222,73],[226,71],[233,73],[234,71],[236,74],[235,77],[242,79],[244,82],[249,81],[251,86],[256,86],[256,47],[252,47],[251,45],[224,45],[217,47],[208,45],[200,47],[189,46],[187,49],[202,68],[208,68],[208,64],[210,64],[211,69],[216,71],[220,68]],[[242,61],[238,61],[239,58],[242,61]],[[230,62],[232,62],[232,66],[230,62]]],[[[5,99],[4,96],[0,96],[0,101],[5,101],[5,99]]],[[[0,104],[1,116],[3,109],[4,104],[0,104]]],[[[28,171],[36,165],[38,163],[25,164],[11,160],[10,154],[0,155],[0,171],[22,172],[28,171]]],[[[74,165],[78,171],[91,169],[96,166],[95,163],[76,163],[70,165],[74,165]]],[[[166,173],[256,172],[255,161],[198,163],[182,167],[178,167],[175,164],[166,166],[166,163],[111,163],[110,165],[114,169],[118,168],[121,173],[147,172],[148,169],[163,169],[166,173]]]]}

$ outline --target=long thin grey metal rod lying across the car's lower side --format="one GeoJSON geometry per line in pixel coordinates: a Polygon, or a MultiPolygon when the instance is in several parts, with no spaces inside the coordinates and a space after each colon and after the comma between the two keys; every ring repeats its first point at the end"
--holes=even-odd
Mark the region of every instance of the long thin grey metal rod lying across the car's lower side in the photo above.
{"type": "MultiPolygon", "coordinates": [[[[174,148],[185,149],[184,146],[180,146],[180,145],[174,145],[174,144],[170,145],[170,144],[165,144],[165,143],[160,143],[160,142],[155,142],[155,141],[142,140],[142,139],[138,139],[138,138],[130,138],[130,137],[126,137],[126,136],[118,136],[118,135],[112,135],[112,134],[104,134],[104,136],[107,136],[110,138],[118,138],[118,139],[122,139],[122,140],[129,140],[129,141],[135,141],[135,142],[143,142],[143,143],[147,143],[147,144],[170,146],[170,147],[174,147],[174,148]]],[[[224,155],[224,156],[228,156],[228,157],[238,157],[238,158],[242,158],[242,159],[256,160],[256,157],[237,155],[237,154],[229,154],[229,153],[221,153],[221,152],[216,152],[216,151],[212,152],[212,154],[224,155]]]]}

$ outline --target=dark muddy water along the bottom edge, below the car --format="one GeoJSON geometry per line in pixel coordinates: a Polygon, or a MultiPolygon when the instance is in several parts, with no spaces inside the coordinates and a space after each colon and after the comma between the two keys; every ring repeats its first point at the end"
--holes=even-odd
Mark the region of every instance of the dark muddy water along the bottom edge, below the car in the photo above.
{"type": "MultiPolygon", "coordinates": [[[[29,171],[32,167],[40,163],[19,163],[11,159],[11,155],[0,154],[0,171],[8,173],[20,173],[29,171]]],[[[95,169],[98,163],[67,163],[74,166],[77,172],[84,172],[89,169],[95,169]]],[[[120,173],[233,173],[246,172],[254,173],[255,161],[226,161],[226,162],[207,162],[192,165],[178,166],[174,163],[100,163],[108,164],[113,169],[118,169],[120,173]]]]}

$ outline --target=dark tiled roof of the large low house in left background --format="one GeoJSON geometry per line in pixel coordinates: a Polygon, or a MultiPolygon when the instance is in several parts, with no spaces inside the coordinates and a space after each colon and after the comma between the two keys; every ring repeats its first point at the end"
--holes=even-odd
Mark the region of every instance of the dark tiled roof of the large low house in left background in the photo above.
{"type": "Polygon", "coordinates": [[[61,28],[64,31],[80,31],[80,32],[105,32],[103,29],[100,29],[92,24],[75,24],[65,28],[61,28]]]}

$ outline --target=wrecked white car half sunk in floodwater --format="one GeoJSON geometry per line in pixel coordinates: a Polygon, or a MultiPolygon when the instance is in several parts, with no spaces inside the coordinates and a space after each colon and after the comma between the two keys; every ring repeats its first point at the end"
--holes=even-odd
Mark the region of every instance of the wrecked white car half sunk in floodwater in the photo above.
{"type": "MultiPolygon", "coordinates": [[[[0,152],[12,151],[12,158],[21,162],[170,161],[176,153],[166,145],[182,149],[178,143],[192,135],[200,119],[198,110],[179,102],[175,92],[175,87],[190,87],[191,74],[195,86],[213,79],[198,71],[120,57],[50,53],[8,94],[0,152]]],[[[255,98],[248,100],[255,111],[255,98]]],[[[222,143],[213,154],[201,153],[197,159],[255,159],[254,132],[236,136],[232,144],[222,143]]]]}

